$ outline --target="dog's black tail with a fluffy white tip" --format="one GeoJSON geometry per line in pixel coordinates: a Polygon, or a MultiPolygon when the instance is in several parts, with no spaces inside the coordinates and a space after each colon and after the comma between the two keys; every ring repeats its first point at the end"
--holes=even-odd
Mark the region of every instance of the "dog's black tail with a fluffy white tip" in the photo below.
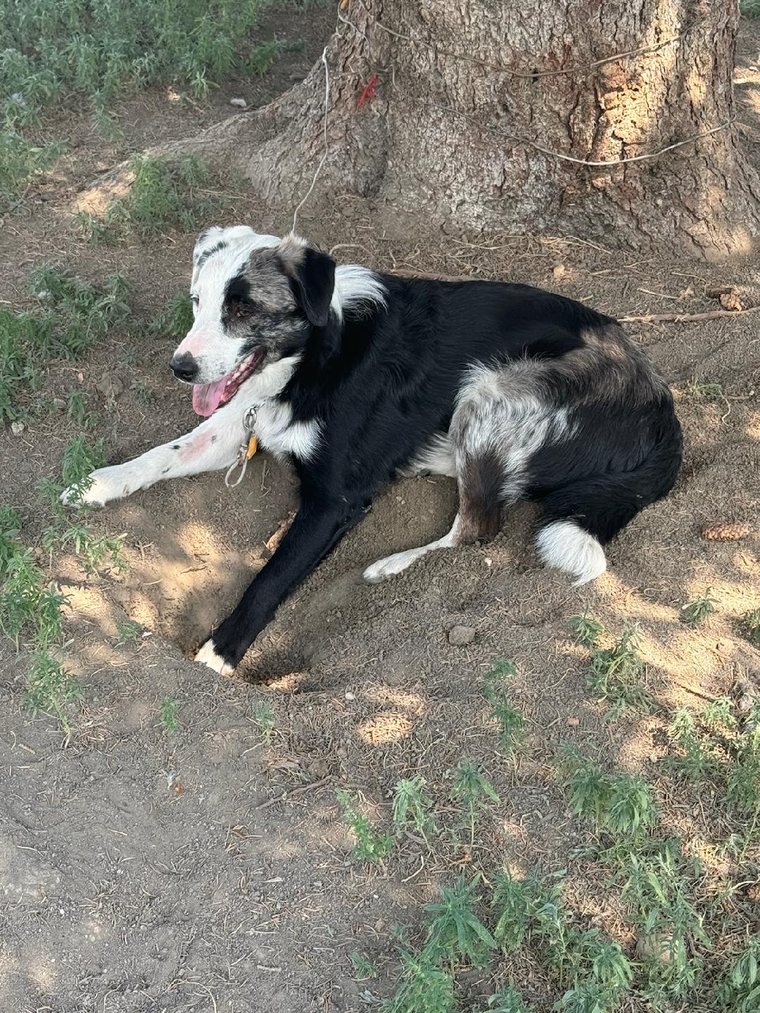
{"type": "Polygon", "coordinates": [[[681,464],[681,431],[674,422],[631,471],[578,479],[542,497],[536,549],[544,563],[569,573],[576,586],[604,572],[602,546],[673,488],[681,464]]]}

